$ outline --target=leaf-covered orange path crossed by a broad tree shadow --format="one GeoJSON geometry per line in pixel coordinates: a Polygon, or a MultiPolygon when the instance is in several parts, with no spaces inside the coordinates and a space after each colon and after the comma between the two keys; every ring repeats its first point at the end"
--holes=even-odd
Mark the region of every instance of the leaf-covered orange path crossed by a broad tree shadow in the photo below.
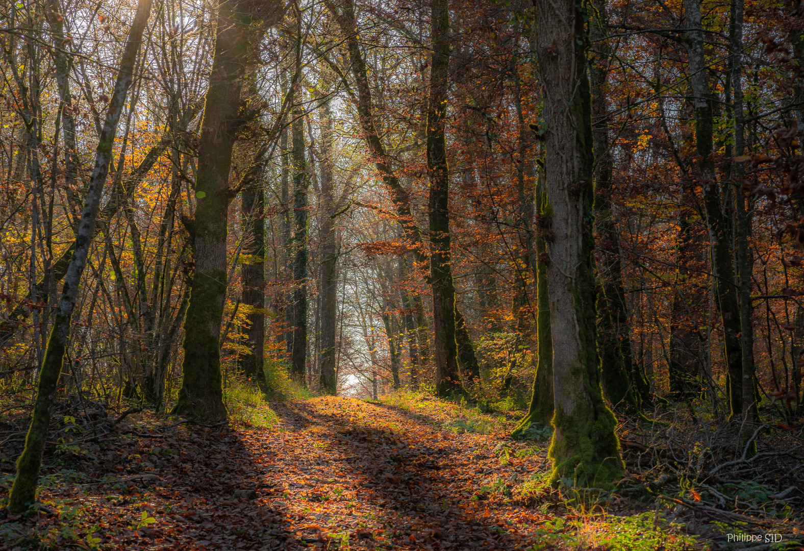
{"type": "Polygon", "coordinates": [[[435,417],[351,398],[273,406],[281,428],[260,430],[246,447],[267,473],[260,501],[283,513],[300,545],[527,549],[539,541],[544,516],[511,500],[511,488],[544,470],[544,451],[516,454],[521,446],[504,434],[457,434],[435,417]]]}

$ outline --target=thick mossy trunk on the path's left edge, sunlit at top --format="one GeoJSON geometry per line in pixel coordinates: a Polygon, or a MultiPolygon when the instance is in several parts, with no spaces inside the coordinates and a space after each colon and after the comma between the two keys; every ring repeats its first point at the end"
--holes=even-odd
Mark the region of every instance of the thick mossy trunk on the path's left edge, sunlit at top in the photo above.
{"type": "Polygon", "coordinates": [[[204,101],[195,179],[190,304],[184,320],[183,382],[174,413],[226,417],[220,372],[220,324],[227,290],[226,241],[233,190],[229,169],[240,129],[240,92],[250,47],[252,3],[224,0],[218,7],[215,53],[204,101]]]}

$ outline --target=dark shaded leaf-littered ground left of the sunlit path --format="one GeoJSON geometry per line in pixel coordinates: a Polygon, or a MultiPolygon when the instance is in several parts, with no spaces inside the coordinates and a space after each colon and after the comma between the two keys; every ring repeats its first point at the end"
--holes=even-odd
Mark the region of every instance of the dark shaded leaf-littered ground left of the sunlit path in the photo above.
{"type": "Polygon", "coordinates": [[[248,432],[142,417],[78,454],[48,448],[45,512],[0,516],[0,549],[306,549],[285,509],[236,495],[264,479],[248,432]]]}

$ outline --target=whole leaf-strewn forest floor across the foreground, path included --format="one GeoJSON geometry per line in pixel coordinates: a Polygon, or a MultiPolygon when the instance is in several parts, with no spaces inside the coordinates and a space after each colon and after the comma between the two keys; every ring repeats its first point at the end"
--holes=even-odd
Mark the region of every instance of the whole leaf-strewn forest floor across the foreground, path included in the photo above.
{"type": "MultiPolygon", "coordinates": [[[[264,428],[141,412],[57,443],[0,548],[726,549],[723,524],[687,535],[672,504],[549,489],[546,442],[511,440],[514,415],[422,395],[271,407],[264,428]]],[[[2,443],[7,488],[20,442],[2,443]]]]}

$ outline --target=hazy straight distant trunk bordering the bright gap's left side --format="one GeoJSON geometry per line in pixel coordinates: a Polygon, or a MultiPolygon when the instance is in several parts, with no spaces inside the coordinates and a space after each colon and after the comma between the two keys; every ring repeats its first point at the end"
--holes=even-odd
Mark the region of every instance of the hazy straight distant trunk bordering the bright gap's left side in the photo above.
{"type": "Polygon", "coordinates": [[[334,220],[334,180],[332,177],[332,116],[330,101],[321,110],[321,388],[328,394],[338,391],[335,371],[338,322],[338,242],[334,220]]]}

